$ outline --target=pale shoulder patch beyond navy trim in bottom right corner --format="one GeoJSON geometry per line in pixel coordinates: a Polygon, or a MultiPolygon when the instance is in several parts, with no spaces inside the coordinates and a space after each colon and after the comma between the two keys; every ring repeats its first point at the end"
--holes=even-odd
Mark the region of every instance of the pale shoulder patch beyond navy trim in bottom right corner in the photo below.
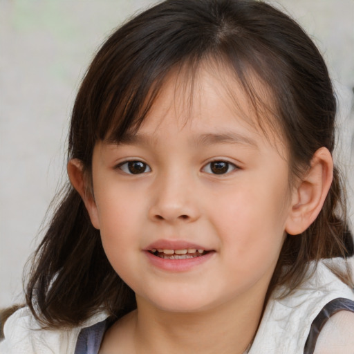
{"type": "Polygon", "coordinates": [[[339,311],[331,316],[317,339],[314,354],[353,354],[354,313],[339,311]]]}

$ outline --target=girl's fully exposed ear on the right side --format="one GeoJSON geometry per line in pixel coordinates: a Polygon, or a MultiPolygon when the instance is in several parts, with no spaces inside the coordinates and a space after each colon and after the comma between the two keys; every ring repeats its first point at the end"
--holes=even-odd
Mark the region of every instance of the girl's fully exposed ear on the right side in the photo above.
{"type": "Polygon", "coordinates": [[[286,232],[304,232],[317,218],[333,180],[333,158],[328,149],[318,149],[310,169],[292,192],[292,205],[286,221],[286,232]]]}

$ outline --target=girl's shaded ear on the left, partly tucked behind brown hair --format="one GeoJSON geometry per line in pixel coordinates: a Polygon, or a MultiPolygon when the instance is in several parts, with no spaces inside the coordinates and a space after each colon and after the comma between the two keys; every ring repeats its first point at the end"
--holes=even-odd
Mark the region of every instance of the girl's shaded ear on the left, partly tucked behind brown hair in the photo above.
{"type": "Polygon", "coordinates": [[[91,192],[91,185],[88,185],[88,178],[85,176],[82,161],[78,158],[69,160],[67,171],[71,185],[80,194],[82,201],[84,201],[84,205],[87,209],[88,215],[91,218],[93,227],[100,229],[95,198],[93,196],[93,192],[91,192]]]}

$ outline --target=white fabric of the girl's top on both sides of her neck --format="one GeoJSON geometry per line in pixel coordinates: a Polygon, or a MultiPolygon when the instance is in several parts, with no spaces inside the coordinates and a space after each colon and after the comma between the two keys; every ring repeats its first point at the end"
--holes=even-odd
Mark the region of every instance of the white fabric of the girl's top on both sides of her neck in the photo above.
{"type": "MultiPolygon", "coordinates": [[[[324,263],[313,277],[292,295],[270,299],[249,354],[303,354],[310,326],[329,301],[338,297],[354,300],[353,289],[340,281],[324,263]]],[[[6,322],[0,354],[74,354],[77,337],[84,327],[106,318],[100,313],[80,327],[38,330],[39,324],[28,308],[17,310],[6,322]],[[34,330],[37,329],[37,330],[34,330]]],[[[317,340],[315,354],[354,353],[354,314],[333,315],[317,340]]]]}

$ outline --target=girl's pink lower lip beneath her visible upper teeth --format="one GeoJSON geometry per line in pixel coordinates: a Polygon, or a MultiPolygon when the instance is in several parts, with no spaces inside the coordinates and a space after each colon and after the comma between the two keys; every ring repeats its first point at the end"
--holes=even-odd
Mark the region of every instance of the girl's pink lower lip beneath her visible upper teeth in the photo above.
{"type": "Polygon", "coordinates": [[[162,270],[169,270],[170,272],[186,272],[192,270],[192,268],[209,261],[214,253],[214,251],[211,251],[203,256],[186,259],[166,259],[157,257],[149,251],[145,251],[147,258],[153,266],[162,270]]]}

